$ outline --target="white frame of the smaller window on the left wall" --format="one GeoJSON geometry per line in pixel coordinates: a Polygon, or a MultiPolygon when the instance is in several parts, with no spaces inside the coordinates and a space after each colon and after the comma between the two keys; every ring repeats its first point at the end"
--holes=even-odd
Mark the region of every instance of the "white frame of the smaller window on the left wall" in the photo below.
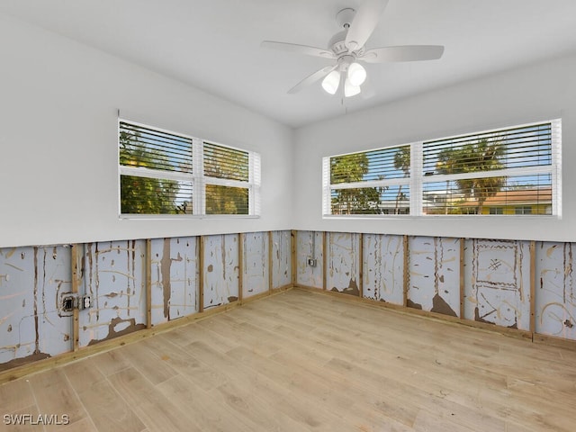
{"type": "MultiPolygon", "coordinates": [[[[220,218],[259,218],[260,217],[260,188],[261,188],[261,157],[260,154],[247,150],[246,148],[238,148],[229,146],[228,144],[221,144],[220,142],[212,139],[201,139],[192,137],[184,133],[175,132],[173,130],[166,130],[150,126],[148,124],[139,123],[138,121],[131,121],[126,119],[118,119],[118,135],[120,137],[120,123],[128,123],[130,125],[147,128],[148,130],[157,130],[167,134],[176,135],[185,139],[192,140],[192,174],[163,171],[159,169],[150,169],[142,166],[124,166],[120,164],[120,145],[118,145],[118,210],[120,219],[220,219],[220,218]],[[203,146],[204,142],[218,145],[224,148],[239,150],[248,154],[248,181],[243,182],[239,180],[221,179],[204,175],[204,157],[203,146]],[[146,178],[157,178],[160,180],[175,180],[180,182],[191,182],[193,187],[193,214],[138,214],[138,213],[122,213],[121,212],[121,175],[132,175],[146,178]],[[206,214],[206,184],[215,184],[221,186],[238,187],[247,189],[248,191],[248,214],[206,214]]],[[[119,139],[119,138],[117,138],[119,139]]]]}

